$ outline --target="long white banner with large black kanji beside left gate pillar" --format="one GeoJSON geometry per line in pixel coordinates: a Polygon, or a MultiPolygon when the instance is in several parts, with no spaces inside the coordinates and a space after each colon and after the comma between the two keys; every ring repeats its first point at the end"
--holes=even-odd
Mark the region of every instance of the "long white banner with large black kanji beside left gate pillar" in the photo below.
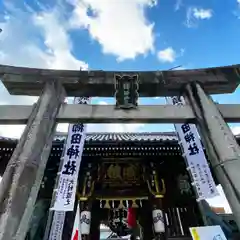
{"type": "MultiPolygon", "coordinates": [[[[90,99],[87,97],[76,97],[74,99],[75,104],[88,104],[89,101],[90,99]]],[[[77,123],[69,125],[56,199],[51,210],[67,212],[74,209],[85,137],[86,124],[77,123]]]]}

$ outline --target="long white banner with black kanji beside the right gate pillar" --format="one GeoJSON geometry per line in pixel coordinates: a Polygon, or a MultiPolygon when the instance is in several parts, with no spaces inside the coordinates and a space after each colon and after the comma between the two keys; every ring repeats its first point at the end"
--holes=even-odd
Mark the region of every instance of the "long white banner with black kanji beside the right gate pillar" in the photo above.
{"type": "MultiPolygon", "coordinates": [[[[183,97],[167,98],[173,105],[184,105],[183,97]]],[[[194,124],[175,124],[179,144],[183,151],[183,157],[188,163],[188,170],[193,178],[198,200],[212,198],[218,195],[208,162],[203,151],[197,128],[194,124]]]]}

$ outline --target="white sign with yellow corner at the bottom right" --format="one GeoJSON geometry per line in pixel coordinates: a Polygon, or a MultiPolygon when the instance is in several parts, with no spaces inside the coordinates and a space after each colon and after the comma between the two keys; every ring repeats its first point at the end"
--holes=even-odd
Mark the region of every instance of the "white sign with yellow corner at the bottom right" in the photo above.
{"type": "Polygon", "coordinates": [[[193,240],[227,240],[220,226],[189,228],[193,240]]]}

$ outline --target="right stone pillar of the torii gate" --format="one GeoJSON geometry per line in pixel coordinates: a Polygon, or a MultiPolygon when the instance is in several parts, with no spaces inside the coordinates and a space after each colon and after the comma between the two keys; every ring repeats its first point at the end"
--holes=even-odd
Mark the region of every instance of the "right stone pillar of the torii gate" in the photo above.
{"type": "Polygon", "coordinates": [[[198,83],[186,86],[209,160],[229,201],[240,229],[240,148],[210,96],[198,83]]]}

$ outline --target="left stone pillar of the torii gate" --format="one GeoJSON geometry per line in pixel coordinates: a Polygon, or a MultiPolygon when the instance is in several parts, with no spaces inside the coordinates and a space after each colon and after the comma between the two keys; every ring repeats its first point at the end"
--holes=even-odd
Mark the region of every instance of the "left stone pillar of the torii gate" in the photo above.
{"type": "Polygon", "coordinates": [[[65,91],[48,81],[35,104],[0,185],[0,240],[24,240],[55,133],[65,91]]]}

